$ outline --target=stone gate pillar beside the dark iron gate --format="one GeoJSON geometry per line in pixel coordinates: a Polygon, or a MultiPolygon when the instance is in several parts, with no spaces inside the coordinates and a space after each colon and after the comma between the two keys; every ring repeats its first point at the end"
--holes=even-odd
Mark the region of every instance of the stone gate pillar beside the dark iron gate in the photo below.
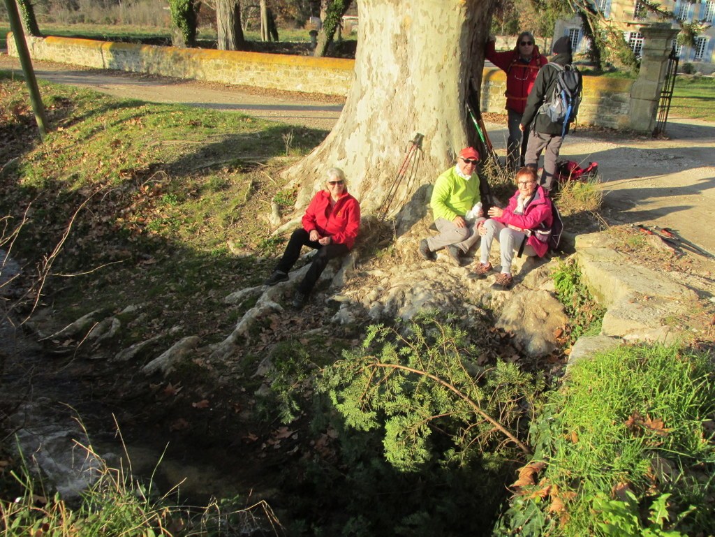
{"type": "Polygon", "coordinates": [[[669,24],[643,26],[643,51],[638,79],[631,87],[629,127],[636,131],[651,133],[656,127],[658,101],[668,69],[668,56],[673,48],[672,40],[678,29],[669,24]]]}

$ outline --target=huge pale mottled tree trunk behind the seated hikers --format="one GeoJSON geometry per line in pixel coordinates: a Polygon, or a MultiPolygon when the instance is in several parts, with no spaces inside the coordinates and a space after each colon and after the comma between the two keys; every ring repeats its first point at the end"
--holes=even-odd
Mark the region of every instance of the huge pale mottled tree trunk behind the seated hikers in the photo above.
{"type": "MultiPolygon", "coordinates": [[[[358,0],[355,80],[345,107],[325,141],[285,171],[298,189],[297,209],[337,166],[363,212],[376,212],[416,133],[425,135],[423,155],[396,199],[414,197],[475,143],[465,100],[471,78],[480,87],[495,1],[358,0]]],[[[398,209],[390,207],[389,214],[398,209]]]]}

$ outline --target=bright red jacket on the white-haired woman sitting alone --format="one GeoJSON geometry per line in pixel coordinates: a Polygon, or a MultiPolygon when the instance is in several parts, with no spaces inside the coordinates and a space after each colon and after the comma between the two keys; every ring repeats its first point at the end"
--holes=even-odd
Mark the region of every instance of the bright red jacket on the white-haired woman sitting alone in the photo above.
{"type": "Polygon", "coordinates": [[[321,237],[330,237],[338,245],[352,248],[360,231],[360,204],[347,192],[343,192],[330,208],[330,193],[321,190],[305,210],[303,229],[317,230],[321,237]]]}

